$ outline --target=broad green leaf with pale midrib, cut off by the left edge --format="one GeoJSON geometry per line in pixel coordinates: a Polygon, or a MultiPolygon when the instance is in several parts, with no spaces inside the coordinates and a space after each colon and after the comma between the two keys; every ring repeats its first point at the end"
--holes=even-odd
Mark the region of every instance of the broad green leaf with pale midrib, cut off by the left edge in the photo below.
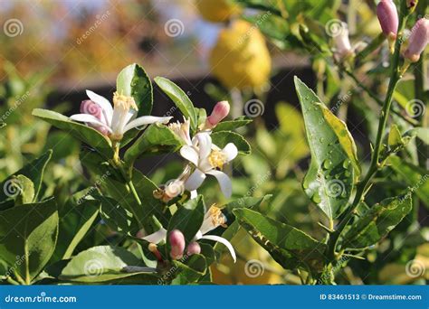
{"type": "Polygon", "coordinates": [[[48,263],[58,236],[53,199],[0,212],[0,257],[30,283],[48,263]]]}

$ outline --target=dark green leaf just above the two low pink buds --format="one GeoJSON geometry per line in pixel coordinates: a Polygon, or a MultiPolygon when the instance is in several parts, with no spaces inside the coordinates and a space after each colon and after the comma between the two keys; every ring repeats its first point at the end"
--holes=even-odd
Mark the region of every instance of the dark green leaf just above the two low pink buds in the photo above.
{"type": "MultiPolygon", "coordinates": [[[[195,199],[186,201],[179,206],[176,213],[168,223],[167,235],[173,230],[180,230],[188,244],[194,239],[196,232],[201,228],[205,216],[205,203],[203,196],[198,195],[195,199]]],[[[167,252],[170,251],[170,244],[167,241],[167,252]]]]}

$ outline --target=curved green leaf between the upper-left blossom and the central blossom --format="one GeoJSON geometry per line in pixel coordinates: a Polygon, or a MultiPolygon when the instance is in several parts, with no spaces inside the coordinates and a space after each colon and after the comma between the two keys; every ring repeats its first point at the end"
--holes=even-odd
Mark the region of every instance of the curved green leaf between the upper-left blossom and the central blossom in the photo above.
{"type": "Polygon", "coordinates": [[[129,147],[124,160],[129,166],[140,155],[161,155],[176,152],[184,141],[168,127],[159,124],[148,126],[138,140],[129,147]]]}

